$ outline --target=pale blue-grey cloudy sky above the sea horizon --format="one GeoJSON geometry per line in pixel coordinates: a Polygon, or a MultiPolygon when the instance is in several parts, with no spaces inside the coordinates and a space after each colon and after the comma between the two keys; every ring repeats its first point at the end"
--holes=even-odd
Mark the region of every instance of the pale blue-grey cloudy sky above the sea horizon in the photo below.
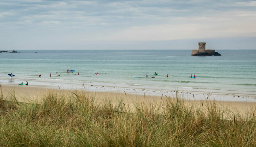
{"type": "Polygon", "coordinates": [[[256,49],[256,0],[0,0],[0,50],[256,49]]]}

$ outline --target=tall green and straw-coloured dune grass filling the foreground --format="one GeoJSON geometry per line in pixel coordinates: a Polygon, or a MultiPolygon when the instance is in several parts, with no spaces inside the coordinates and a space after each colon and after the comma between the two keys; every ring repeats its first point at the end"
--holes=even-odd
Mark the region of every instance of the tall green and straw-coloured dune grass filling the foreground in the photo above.
{"type": "Polygon", "coordinates": [[[214,102],[128,105],[85,91],[41,99],[20,103],[1,92],[0,146],[256,146],[255,111],[240,116],[214,102]]]}

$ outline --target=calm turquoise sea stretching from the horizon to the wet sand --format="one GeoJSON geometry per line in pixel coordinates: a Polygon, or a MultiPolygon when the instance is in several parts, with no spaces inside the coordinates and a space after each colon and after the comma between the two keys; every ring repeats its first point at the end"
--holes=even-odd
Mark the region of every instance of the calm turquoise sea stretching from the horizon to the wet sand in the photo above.
{"type": "Polygon", "coordinates": [[[19,52],[0,53],[1,83],[13,73],[24,81],[256,93],[256,50],[217,50],[221,56],[191,56],[191,50],[173,49],[19,52]],[[75,72],[67,73],[68,69],[75,72]],[[191,74],[196,78],[189,78],[191,74]]]}

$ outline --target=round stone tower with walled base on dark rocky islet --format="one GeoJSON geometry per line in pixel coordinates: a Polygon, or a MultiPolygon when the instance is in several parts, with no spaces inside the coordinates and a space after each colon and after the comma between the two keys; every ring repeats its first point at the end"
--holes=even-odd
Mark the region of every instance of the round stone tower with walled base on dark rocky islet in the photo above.
{"type": "Polygon", "coordinates": [[[198,43],[198,49],[192,49],[192,56],[221,56],[215,49],[205,49],[205,42],[198,43]]]}

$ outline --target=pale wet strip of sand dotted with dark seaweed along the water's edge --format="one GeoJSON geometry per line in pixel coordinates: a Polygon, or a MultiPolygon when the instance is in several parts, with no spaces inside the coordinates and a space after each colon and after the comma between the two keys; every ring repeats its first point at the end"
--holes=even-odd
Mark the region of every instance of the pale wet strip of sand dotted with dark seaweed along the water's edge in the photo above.
{"type": "MultiPolygon", "coordinates": [[[[7,81],[7,80],[6,80],[7,81]]],[[[150,87],[150,86],[129,86],[122,84],[111,83],[82,83],[82,82],[45,82],[45,81],[29,81],[29,86],[18,86],[18,83],[24,80],[15,80],[15,82],[3,82],[1,86],[20,88],[20,87],[40,87],[46,89],[62,89],[62,90],[86,90],[89,92],[113,92],[132,95],[147,95],[147,96],[171,96],[178,94],[182,99],[186,100],[216,100],[229,102],[256,102],[256,94],[248,92],[242,94],[240,91],[221,91],[204,89],[185,89],[185,88],[165,88],[165,87],[150,87]],[[177,93],[176,93],[177,92],[177,93]],[[239,93],[240,92],[240,93],[239,93]]]]}

